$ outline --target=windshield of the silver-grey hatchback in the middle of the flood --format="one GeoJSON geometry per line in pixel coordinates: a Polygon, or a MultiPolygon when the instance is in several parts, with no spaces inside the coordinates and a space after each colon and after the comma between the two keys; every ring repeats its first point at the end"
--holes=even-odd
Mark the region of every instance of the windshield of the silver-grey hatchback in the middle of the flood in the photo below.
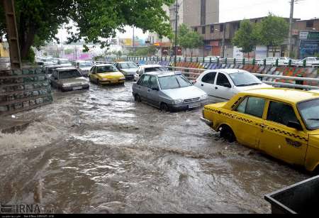
{"type": "Polygon", "coordinates": [[[166,89],[179,89],[182,87],[190,87],[191,82],[183,75],[172,75],[167,77],[159,77],[159,85],[162,90],[166,89]]]}

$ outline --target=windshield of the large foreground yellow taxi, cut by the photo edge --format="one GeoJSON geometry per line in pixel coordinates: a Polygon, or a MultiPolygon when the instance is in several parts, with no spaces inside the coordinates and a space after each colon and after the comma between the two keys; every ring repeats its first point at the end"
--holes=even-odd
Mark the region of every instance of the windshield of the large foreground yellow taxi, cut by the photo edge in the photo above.
{"type": "Polygon", "coordinates": [[[319,129],[319,99],[313,99],[308,102],[298,104],[298,109],[305,121],[307,129],[319,129]]]}

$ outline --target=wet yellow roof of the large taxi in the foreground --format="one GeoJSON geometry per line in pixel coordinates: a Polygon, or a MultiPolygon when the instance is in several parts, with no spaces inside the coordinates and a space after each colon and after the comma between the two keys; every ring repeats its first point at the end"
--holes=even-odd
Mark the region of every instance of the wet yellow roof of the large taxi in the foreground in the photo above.
{"type": "Polygon", "coordinates": [[[249,91],[242,92],[242,94],[264,97],[267,99],[276,99],[281,102],[289,102],[292,104],[296,104],[298,102],[305,102],[310,99],[319,99],[318,93],[287,88],[252,89],[249,91]]]}

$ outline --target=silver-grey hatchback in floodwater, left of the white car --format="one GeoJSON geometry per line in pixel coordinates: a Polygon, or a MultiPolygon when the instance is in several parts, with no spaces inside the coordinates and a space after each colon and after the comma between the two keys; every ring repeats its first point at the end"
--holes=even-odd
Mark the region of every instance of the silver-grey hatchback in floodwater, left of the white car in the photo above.
{"type": "Polygon", "coordinates": [[[133,84],[136,102],[146,102],[162,111],[201,107],[207,94],[194,87],[184,75],[175,72],[145,72],[133,84]]]}

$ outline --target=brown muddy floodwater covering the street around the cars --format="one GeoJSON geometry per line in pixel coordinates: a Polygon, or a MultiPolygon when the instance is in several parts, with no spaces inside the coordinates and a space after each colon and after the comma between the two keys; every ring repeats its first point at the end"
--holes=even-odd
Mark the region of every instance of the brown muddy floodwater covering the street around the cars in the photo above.
{"type": "Polygon", "coordinates": [[[56,213],[270,213],[264,195],[310,175],[201,123],[135,103],[132,83],[54,92],[0,134],[0,202],[56,213]]]}

